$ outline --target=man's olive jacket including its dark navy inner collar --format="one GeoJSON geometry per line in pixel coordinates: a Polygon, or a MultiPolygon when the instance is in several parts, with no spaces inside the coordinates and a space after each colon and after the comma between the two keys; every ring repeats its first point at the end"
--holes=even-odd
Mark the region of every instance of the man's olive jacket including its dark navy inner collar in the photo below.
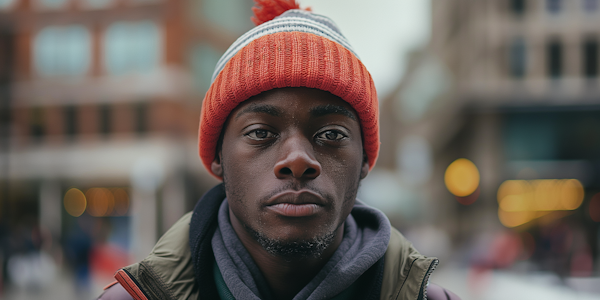
{"type": "MultiPolygon", "coordinates": [[[[119,270],[117,281],[136,300],[219,299],[210,242],[224,198],[222,184],[208,191],[193,212],[160,238],[148,257],[119,270]]],[[[419,254],[392,228],[382,268],[377,272],[382,275],[373,274],[382,280],[380,299],[426,299],[429,276],[437,264],[436,258],[419,254]]]]}

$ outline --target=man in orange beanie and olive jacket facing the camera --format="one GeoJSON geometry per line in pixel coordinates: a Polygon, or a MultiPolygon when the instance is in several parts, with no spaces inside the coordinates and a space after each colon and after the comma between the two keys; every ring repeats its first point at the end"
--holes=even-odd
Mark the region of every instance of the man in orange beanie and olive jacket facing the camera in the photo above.
{"type": "Polygon", "coordinates": [[[328,18],[259,2],[203,103],[200,157],[223,184],[100,299],[450,298],[427,288],[437,259],[356,200],[379,150],[370,74],[328,18]]]}

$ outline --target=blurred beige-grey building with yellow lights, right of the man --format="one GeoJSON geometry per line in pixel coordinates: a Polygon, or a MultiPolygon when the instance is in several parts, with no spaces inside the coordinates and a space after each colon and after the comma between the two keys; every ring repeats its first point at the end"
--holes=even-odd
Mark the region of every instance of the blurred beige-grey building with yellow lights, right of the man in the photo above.
{"type": "Polygon", "coordinates": [[[600,270],[600,1],[432,1],[432,22],[382,101],[378,166],[456,245],[510,228],[541,269],[600,270]],[[444,182],[458,158],[467,197],[444,182]]]}

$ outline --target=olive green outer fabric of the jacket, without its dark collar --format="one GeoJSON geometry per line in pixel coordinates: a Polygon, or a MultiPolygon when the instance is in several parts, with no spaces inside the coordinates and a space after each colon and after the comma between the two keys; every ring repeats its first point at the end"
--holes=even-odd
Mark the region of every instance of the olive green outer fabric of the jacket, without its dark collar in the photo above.
{"type": "MultiPolygon", "coordinates": [[[[117,281],[134,299],[198,299],[202,291],[194,283],[188,242],[191,217],[190,212],[173,225],[146,259],[116,273],[117,281]]],[[[437,264],[436,258],[419,254],[392,228],[380,299],[427,299],[429,276],[437,264]]]]}

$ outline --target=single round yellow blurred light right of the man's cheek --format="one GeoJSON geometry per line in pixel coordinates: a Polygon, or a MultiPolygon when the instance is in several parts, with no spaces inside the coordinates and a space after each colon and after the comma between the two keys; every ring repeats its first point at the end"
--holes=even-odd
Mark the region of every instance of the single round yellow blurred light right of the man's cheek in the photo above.
{"type": "Polygon", "coordinates": [[[444,183],[448,191],[456,197],[466,197],[479,186],[479,170],[466,158],[453,161],[444,174],[444,183]]]}

